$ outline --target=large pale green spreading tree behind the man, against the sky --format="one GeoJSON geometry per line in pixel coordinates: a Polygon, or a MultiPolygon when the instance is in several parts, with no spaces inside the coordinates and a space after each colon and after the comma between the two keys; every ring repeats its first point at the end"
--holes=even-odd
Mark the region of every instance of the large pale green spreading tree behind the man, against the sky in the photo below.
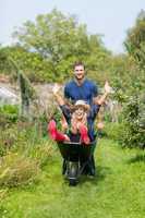
{"type": "Polygon", "coordinates": [[[70,77],[76,60],[99,72],[110,56],[100,36],[88,35],[86,25],[56,9],[38,15],[35,22],[27,21],[13,35],[17,39],[13,58],[20,60],[22,69],[29,68],[33,81],[63,82],[70,77]]]}

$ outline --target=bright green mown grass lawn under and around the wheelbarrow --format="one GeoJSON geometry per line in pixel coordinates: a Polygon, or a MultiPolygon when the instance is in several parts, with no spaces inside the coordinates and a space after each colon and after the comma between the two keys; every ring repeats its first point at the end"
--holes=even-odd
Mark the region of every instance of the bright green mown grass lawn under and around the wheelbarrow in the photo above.
{"type": "Polygon", "coordinates": [[[59,153],[35,185],[12,189],[0,203],[2,218],[144,218],[145,152],[100,140],[97,174],[75,187],[61,175],[59,153]]]}

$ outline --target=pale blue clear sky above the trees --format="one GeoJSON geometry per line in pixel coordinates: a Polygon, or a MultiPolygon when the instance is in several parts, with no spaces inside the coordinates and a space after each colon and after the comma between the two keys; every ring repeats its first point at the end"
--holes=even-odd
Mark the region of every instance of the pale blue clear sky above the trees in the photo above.
{"type": "Polygon", "coordinates": [[[128,29],[145,10],[145,0],[0,0],[0,44],[11,45],[15,27],[55,8],[65,15],[76,15],[89,34],[102,35],[105,46],[121,53],[128,29]]]}

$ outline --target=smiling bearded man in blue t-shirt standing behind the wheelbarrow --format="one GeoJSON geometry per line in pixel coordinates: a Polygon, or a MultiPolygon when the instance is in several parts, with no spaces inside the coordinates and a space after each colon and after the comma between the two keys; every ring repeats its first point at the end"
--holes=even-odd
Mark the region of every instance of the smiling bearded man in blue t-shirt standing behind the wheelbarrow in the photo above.
{"type": "MultiPolygon", "coordinates": [[[[75,102],[76,100],[85,100],[87,104],[93,105],[94,98],[98,95],[97,86],[85,77],[85,66],[82,62],[74,64],[74,80],[65,84],[64,97],[75,102]]],[[[94,131],[94,122],[89,126],[94,131]]],[[[94,155],[90,157],[89,170],[86,173],[95,175],[95,160],[94,155]]]]}

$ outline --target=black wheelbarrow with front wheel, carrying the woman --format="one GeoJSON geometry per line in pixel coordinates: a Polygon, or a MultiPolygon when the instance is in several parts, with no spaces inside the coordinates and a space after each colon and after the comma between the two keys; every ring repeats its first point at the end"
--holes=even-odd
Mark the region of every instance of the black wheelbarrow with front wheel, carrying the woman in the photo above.
{"type": "Polygon", "coordinates": [[[80,142],[58,143],[63,158],[62,174],[65,174],[70,185],[76,185],[81,174],[95,173],[94,149],[96,141],[89,145],[80,142]]]}

